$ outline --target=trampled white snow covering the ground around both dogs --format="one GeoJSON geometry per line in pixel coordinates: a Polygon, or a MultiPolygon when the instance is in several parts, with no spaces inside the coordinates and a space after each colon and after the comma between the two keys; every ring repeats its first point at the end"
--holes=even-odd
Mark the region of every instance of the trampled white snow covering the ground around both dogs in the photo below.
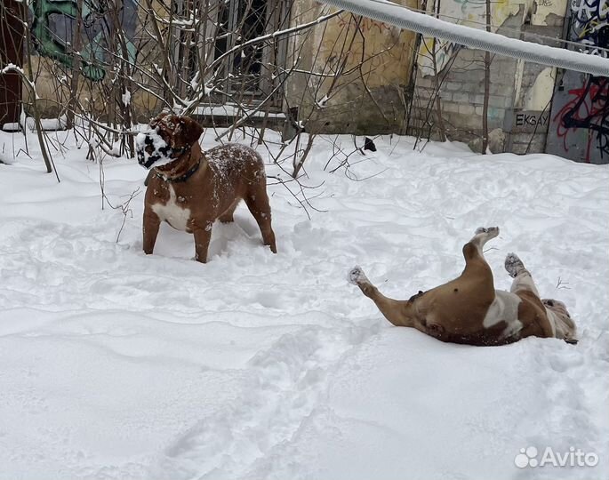
{"type": "MultiPolygon", "coordinates": [[[[20,133],[0,132],[0,155],[19,154],[0,164],[0,479],[609,475],[606,165],[383,137],[330,173],[334,138],[319,137],[311,219],[272,185],[279,252],[242,205],[202,265],[168,226],[141,252],[141,194],[116,242],[124,215],[101,210],[99,164],[73,138],[52,134],[66,145],[57,183],[34,134],[29,158],[20,133]],[[461,273],[461,245],[493,225],[496,286],[517,252],[542,295],[565,301],[579,345],[441,343],[390,326],[346,280],[360,264],[408,298],[461,273]],[[517,468],[531,446],[535,460],[573,447],[598,464],[517,468]]],[[[112,204],[143,189],[134,160],[107,158],[104,174],[112,204]]]]}

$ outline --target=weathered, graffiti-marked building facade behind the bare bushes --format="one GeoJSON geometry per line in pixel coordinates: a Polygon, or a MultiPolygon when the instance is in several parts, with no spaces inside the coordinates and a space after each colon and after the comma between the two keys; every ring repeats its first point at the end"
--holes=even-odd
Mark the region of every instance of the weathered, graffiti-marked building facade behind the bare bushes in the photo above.
{"type": "MultiPolygon", "coordinates": [[[[567,39],[567,48],[606,57],[607,1],[493,1],[491,29],[552,46],[567,39]]],[[[486,116],[493,152],[609,162],[604,77],[491,55],[485,112],[485,52],[335,15],[315,0],[120,0],[115,10],[93,0],[32,0],[26,61],[10,18],[23,14],[20,5],[2,7],[0,60],[32,76],[43,116],[65,115],[76,92],[80,108],[109,123],[196,105],[188,113],[212,124],[254,112],[308,132],[408,132],[478,150],[486,116]]],[[[484,0],[424,6],[486,28],[484,0]]],[[[16,122],[20,100],[30,113],[32,90],[17,74],[0,75],[0,124],[16,122]]]]}

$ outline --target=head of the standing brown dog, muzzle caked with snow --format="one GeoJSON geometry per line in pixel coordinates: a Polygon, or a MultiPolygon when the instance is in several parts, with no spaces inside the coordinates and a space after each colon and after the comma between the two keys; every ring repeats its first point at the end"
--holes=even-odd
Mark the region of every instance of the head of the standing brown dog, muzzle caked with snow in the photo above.
{"type": "Polygon", "coordinates": [[[150,130],[135,137],[138,164],[146,169],[171,164],[195,144],[201,125],[188,116],[161,114],[150,122],[150,130]]]}

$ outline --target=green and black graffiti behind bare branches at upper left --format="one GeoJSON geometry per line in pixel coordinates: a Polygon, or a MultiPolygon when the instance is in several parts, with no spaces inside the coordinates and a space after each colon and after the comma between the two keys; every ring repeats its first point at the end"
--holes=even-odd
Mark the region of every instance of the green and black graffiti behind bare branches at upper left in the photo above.
{"type": "MultiPolygon", "coordinates": [[[[86,78],[100,81],[105,76],[104,60],[108,54],[108,38],[114,25],[114,12],[108,12],[100,0],[84,0],[82,34],[80,38],[82,73],[86,78]]],[[[30,4],[32,35],[36,52],[75,68],[71,44],[74,42],[78,7],[76,0],[33,0],[30,4]]],[[[132,38],[137,22],[136,0],[124,0],[117,18],[127,38],[130,60],[135,59],[132,38]]],[[[79,60],[80,61],[80,60],[79,60]]]]}

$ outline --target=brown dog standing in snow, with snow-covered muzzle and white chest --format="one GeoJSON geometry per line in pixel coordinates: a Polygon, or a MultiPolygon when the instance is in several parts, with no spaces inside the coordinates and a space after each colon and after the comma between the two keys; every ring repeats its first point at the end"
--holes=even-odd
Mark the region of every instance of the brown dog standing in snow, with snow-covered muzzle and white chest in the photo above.
{"type": "Polygon", "coordinates": [[[155,248],[166,221],[195,236],[196,260],[207,261],[214,220],[233,221],[243,199],[258,222],[262,240],[276,253],[270,224],[267,178],[262,158],[252,148],[228,144],[203,153],[203,128],[185,116],[161,115],[136,138],[138,163],[150,169],[144,200],[144,252],[155,248]]]}

